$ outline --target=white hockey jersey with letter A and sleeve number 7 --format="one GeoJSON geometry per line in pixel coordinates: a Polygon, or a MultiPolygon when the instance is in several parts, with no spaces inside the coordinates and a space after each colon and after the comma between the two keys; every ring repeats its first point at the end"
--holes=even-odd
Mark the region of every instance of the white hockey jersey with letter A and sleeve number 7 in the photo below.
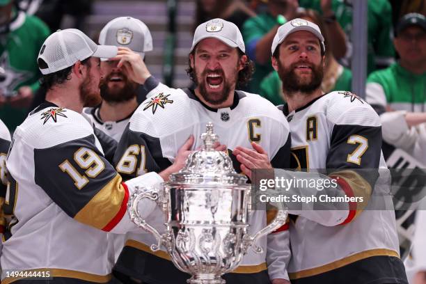
{"type": "MultiPolygon", "coordinates": [[[[326,169],[339,177],[347,196],[368,200],[371,181],[351,170],[386,169],[380,120],[370,105],[352,93],[336,91],[291,113],[286,105],[278,108],[290,124],[292,168],[326,169]]],[[[349,204],[345,220],[326,226],[303,214],[291,218],[287,269],[292,283],[406,283],[395,213],[360,210],[361,205],[349,204]]]]}

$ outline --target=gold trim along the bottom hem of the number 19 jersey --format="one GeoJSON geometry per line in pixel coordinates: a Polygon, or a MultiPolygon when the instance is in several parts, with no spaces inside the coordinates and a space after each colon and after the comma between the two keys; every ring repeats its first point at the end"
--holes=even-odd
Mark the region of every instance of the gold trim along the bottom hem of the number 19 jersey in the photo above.
{"type": "MultiPolygon", "coordinates": [[[[39,271],[44,272],[44,275],[47,277],[46,280],[48,280],[50,277],[66,277],[66,278],[77,278],[84,281],[91,281],[95,283],[108,283],[109,281],[111,281],[111,278],[112,278],[112,274],[97,275],[97,274],[90,274],[90,273],[81,272],[81,271],[58,269],[58,268],[38,268],[38,269],[23,270],[22,272],[31,274],[31,273],[39,272],[39,271]]],[[[19,271],[19,273],[20,272],[21,271],[19,271]]],[[[4,278],[1,281],[1,284],[13,283],[21,279],[25,279],[25,277],[8,277],[8,278],[4,278]]],[[[42,283],[43,278],[38,278],[38,279],[40,279],[40,283],[42,283]]]]}

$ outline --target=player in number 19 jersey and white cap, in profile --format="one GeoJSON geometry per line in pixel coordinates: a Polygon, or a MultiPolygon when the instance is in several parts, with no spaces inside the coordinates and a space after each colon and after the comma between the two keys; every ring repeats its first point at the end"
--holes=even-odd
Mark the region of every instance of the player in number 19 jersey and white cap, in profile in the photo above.
{"type": "MultiPolygon", "coordinates": [[[[141,232],[126,213],[129,195],[138,184],[159,186],[189,154],[192,138],[170,168],[126,183],[104,158],[93,126],[80,113],[100,102],[100,58],[116,52],[117,47],[96,45],[77,29],[53,33],[40,49],[47,101],[17,127],[6,161],[3,209],[10,221],[3,235],[1,267],[6,273],[1,283],[22,276],[24,283],[35,277],[109,283],[113,255],[106,232],[141,232]]],[[[143,201],[139,210],[148,215],[153,207],[143,201]]]]}

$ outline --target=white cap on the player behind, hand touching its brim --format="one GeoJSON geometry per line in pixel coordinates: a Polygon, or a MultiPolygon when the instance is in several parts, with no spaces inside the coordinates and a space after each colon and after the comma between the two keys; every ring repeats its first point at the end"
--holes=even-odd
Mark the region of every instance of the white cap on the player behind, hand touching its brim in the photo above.
{"type": "Polygon", "coordinates": [[[134,17],[117,17],[111,19],[99,35],[101,45],[116,45],[129,47],[134,52],[141,54],[152,50],[152,36],[148,26],[134,17]]]}

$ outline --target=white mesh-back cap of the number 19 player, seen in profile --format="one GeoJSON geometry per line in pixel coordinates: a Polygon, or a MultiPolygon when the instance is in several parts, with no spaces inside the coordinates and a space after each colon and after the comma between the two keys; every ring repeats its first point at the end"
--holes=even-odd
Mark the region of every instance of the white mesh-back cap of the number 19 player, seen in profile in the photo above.
{"type": "Polygon", "coordinates": [[[52,33],[46,38],[37,61],[42,59],[47,68],[41,68],[42,74],[50,74],[68,68],[77,61],[84,61],[90,56],[111,58],[117,55],[117,47],[97,45],[78,29],[64,29],[52,33]]]}

